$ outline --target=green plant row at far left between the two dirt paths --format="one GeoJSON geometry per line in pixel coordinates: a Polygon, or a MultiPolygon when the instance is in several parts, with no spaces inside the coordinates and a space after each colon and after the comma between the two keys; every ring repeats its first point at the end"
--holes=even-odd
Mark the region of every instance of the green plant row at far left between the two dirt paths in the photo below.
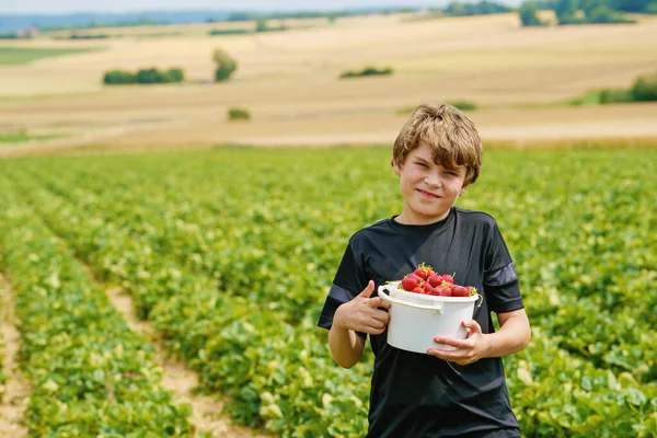
{"type": "Polygon", "coordinates": [[[34,385],[24,414],[30,434],[194,436],[191,407],[162,388],[152,348],[128,330],[16,186],[5,176],[0,185],[0,268],[13,286],[19,359],[34,385]]]}

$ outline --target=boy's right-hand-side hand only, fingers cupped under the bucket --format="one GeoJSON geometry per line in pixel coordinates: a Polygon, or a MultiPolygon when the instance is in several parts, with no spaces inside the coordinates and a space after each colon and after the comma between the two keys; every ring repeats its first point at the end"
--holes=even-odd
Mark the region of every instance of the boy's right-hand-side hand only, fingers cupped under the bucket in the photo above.
{"type": "Polygon", "coordinates": [[[477,361],[485,356],[488,350],[488,339],[482,333],[482,327],[474,320],[463,321],[461,323],[468,332],[465,339],[453,339],[451,337],[436,337],[436,344],[450,345],[457,349],[445,350],[429,348],[427,355],[436,356],[442,360],[456,362],[459,365],[468,365],[477,361]]]}

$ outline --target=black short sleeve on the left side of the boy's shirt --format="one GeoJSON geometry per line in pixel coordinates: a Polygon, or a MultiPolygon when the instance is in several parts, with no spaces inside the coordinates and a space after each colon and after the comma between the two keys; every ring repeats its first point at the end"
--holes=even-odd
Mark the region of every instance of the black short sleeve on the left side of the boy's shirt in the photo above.
{"type": "Polygon", "coordinates": [[[318,322],[320,327],[331,328],[337,308],[353,300],[367,286],[360,261],[361,257],[354,254],[353,245],[349,243],[324,301],[324,308],[318,322]]]}

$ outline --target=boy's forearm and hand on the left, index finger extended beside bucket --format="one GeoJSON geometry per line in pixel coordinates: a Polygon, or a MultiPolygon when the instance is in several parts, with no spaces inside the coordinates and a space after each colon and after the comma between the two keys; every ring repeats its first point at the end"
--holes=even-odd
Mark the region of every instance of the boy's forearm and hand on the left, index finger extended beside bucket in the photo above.
{"type": "Polygon", "coordinates": [[[337,308],[328,332],[331,356],[343,368],[351,368],[362,357],[365,337],[356,332],[381,334],[388,324],[389,313],[379,308],[390,308],[380,297],[370,298],[374,281],[370,280],[360,295],[337,308]]]}

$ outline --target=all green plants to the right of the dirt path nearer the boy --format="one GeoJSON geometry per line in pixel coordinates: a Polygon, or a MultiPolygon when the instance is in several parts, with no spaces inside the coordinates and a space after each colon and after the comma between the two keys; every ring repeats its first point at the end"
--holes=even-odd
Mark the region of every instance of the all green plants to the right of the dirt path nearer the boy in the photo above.
{"type": "MultiPolygon", "coordinates": [[[[388,150],[66,160],[8,171],[96,275],[134,295],[205,388],[232,397],[237,419],[281,436],[362,435],[371,356],[338,369],[314,322],[348,235],[399,208],[381,171],[388,150]]],[[[522,278],[534,336],[505,361],[523,433],[650,436],[656,338],[644,327],[657,303],[642,291],[657,286],[645,239],[655,152],[486,160],[463,206],[499,218],[522,278]]]]}

